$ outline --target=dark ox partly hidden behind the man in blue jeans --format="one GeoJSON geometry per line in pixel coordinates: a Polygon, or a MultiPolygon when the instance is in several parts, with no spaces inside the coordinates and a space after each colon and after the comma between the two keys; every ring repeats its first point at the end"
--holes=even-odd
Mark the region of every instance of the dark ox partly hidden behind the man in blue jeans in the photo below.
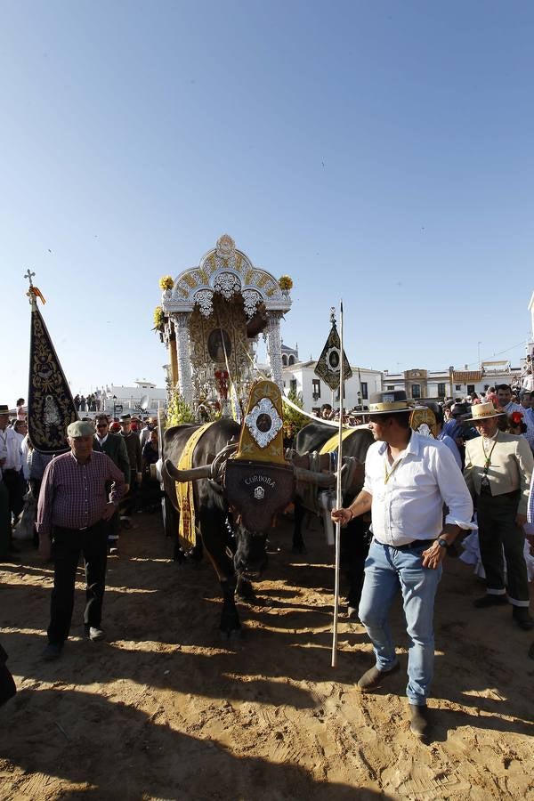
{"type": "MultiPolygon", "coordinates": [[[[292,461],[295,465],[310,465],[311,454],[323,448],[335,435],[336,428],[333,425],[322,423],[320,420],[304,425],[295,437],[295,453],[292,455],[292,461]]],[[[367,426],[355,428],[343,442],[343,461],[344,465],[349,468],[344,470],[343,506],[348,506],[363,487],[365,457],[369,445],[373,442],[373,434],[367,426]]],[[[322,469],[332,469],[332,465],[335,463],[336,457],[333,457],[332,453],[320,456],[322,469]]],[[[312,512],[317,512],[318,504],[316,498],[312,499],[312,503],[310,503],[309,494],[299,490],[301,488],[297,484],[293,550],[303,553],[304,510],[309,508],[312,512]]],[[[332,501],[334,501],[334,497],[332,497],[332,501]]],[[[354,518],[341,530],[341,567],[349,585],[346,599],[349,617],[355,616],[360,604],[363,568],[368,555],[369,543],[368,523],[364,522],[361,517],[354,518]]]]}

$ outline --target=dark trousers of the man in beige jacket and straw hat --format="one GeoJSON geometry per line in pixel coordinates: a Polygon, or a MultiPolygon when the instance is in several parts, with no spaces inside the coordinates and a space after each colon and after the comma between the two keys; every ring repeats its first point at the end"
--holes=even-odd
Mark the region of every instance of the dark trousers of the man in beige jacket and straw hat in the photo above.
{"type": "Polygon", "coordinates": [[[514,493],[477,498],[481,560],[490,595],[504,595],[515,606],[529,606],[529,579],[523,554],[525,537],[515,523],[519,497],[514,493]],[[503,547],[506,557],[506,585],[503,547]],[[506,588],[505,588],[506,587],[506,588]]]}

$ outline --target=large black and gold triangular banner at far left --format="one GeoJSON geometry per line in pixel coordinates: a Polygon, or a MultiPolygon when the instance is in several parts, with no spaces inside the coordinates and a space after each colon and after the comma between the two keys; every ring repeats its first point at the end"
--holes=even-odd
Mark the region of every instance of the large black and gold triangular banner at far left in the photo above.
{"type": "Polygon", "coordinates": [[[77,420],[72,393],[41,312],[32,304],[29,342],[28,435],[41,453],[69,450],[67,426],[77,420]]]}

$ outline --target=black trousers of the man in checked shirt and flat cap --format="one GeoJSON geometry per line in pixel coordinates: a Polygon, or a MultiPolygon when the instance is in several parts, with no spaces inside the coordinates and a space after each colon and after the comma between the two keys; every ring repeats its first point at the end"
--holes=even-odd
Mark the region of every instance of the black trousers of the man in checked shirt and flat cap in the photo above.
{"type": "Polygon", "coordinates": [[[63,529],[59,526],[53,530],[53,591],[48,627],[48,640],[53,645],[62,645],[69,636],[80,555],[85,562],[84,623],[85,626],[95,628],[101,625],[108,558],[107,534],[103,521],[85,531],[63,529]]]}

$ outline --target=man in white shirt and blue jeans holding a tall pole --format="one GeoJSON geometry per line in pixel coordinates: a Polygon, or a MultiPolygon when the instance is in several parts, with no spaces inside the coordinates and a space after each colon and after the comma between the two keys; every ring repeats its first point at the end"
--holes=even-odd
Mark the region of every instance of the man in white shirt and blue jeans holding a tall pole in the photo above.
{"type": "Polygon", "coordinates": [[[363,490],[347,509],[335,509],[342,524],[371,510],[373,541],[365,567],[359,617],[373,643],[376,666],[361,676],[362,692],[375,690],[399,670],[388,614],[399,588],[409,635],[407,695],[411,730],[428,733],[433,678],[433,603],[447,546],[460,529],[473,529],[473,502],[462,473],[443,443],[412,432],[404,392],[385,392],[370,404],[363,490]],[[449,514],[443,524],[443,504],[449,514]]]}

